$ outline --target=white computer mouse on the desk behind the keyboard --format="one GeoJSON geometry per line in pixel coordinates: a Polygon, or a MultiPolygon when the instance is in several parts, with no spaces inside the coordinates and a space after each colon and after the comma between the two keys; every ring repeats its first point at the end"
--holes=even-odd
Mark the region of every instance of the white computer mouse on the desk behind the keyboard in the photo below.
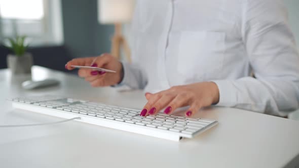
{"type": "Polygon", "coordinates": [[[58,85],[59,83],[60,81],[56,79],[45,79],[38,81],[27,80],[22,83],[22,87],[24,89],[37,89],[58,85]]]}

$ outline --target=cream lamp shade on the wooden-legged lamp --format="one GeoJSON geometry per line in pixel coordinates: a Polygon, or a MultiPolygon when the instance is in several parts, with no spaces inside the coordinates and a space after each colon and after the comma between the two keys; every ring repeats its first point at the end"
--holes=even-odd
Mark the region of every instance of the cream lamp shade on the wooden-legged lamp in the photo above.
{"type": "Polygon", "coordinates": [[[134,0],[98,0],[98,20],[102,24],[129,22],[134,4],[134,0]]]}

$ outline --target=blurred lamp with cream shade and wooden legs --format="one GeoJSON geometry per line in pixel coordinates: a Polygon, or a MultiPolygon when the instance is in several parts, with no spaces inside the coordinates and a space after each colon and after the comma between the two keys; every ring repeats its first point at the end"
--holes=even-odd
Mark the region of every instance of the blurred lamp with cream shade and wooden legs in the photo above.
{"type": "Polygon", "coordinates": [[[111,39],[111,55],[120,59],[121,47],[127,60],[131,62],[130,48],[122,35],[122,24],[131,20],[134,0],[98,0],[98,20],[101,24],[114,24],[115,32],[111,39]]]}

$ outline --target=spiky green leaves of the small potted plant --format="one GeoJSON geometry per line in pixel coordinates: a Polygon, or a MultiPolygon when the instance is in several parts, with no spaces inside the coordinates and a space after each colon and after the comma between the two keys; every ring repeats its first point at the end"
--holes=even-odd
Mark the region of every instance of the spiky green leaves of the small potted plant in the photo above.
{"type": "Polygon", "coordinates": [[[8,38],[9,45],[6,46],[8,49],[10,49],[17,57],[22,57],[27,48],[28,45],[25,45],[26,36],[17,36],[16,38],[8,38]]]}

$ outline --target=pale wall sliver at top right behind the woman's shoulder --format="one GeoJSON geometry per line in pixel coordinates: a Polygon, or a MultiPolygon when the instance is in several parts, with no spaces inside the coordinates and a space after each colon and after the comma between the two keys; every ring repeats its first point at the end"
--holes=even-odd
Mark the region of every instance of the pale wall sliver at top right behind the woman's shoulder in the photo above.
{"type": "Polygon", "coordinates": [[[291,29],[299,48],[299,0],[284,0],[289,12],[291,29]]]}

